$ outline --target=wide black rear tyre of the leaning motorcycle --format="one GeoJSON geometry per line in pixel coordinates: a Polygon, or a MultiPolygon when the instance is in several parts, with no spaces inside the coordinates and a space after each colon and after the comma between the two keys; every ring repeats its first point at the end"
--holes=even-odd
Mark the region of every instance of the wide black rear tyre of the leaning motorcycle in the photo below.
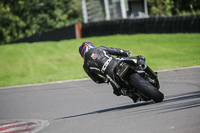
{"type": "Polygon", "coordinates": [[[164,94],[156,89],[152,84],[142,78],[138,73],[134,73],[130,76],[130,83],[135,86],[139,92],[146,97],[153,99],[154,102],[162,102],[164,94]]]}

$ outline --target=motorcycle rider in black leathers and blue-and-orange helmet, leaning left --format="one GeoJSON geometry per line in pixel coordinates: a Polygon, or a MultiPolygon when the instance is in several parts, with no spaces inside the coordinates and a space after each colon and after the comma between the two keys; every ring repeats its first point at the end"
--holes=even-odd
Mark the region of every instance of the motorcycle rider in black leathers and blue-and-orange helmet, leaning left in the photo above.
{"type": "MultiPolygon", "coordinates": [[[[115,80],[114,70],[121,62],[120,59],[111,55],[128,57],[131,51],[120,48],[111,48],[100,46],[96,47],[91,42],[83,42],[79,47],[79,53],[84,59],[83,68],[88,76],[96,83],[110,83],[113,87],[113,93],[117,96],[129,96],[134,102],[138,97],[132,93],[128,93],[128,89],[122,88],[115,80]]],[[[143,56],[131,57],[133,59],[144,61],[143,56]]]]}

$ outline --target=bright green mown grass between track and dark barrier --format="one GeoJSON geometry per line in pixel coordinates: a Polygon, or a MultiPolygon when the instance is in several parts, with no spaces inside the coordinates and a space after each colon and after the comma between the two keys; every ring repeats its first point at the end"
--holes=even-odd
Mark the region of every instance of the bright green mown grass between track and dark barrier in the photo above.
{"type": "Polygon", "coordinates": [[[86,78],[83,41],[143,55],[153,70],[200,65],[200,34],[138,34],[0,46],[0,86],[86,78]]]}

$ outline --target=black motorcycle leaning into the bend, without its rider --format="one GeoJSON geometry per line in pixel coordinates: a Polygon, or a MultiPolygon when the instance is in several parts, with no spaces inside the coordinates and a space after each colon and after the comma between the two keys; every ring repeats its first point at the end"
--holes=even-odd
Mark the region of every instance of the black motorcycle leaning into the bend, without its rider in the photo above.
{"type": "Polygon", "coordinates": [[[134,95],[134,102],[163,101],[164,94],[159,91],[157,72],[152,71],[145,63],[138,65],[137,60],[131,57],[120,57],[120,60],[121,63],[115,69],[116,80],[128,89],[129,94],[134,95]]]}

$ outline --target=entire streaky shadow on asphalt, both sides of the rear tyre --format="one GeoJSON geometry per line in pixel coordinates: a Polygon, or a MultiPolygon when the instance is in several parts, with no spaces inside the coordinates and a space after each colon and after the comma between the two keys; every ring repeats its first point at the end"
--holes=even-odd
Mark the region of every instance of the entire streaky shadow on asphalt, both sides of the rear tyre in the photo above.
{"type": "MultiPolygon", "coordinates": [[[[89,113],[61,117],[61,118],[57,118],[55,120],[69,119],[69,118],[87,116],[87,115],[92,115],[92,114],[97,114],[97,113],[106,113],[106,112],[111,112],[111,111],[130,109],[130,108],[140,107],[140,106],[144,106],[144,105],[148,105],[148,104],[152,104],[152,103],[154,103],[154,102],[141,102],[141,103],[137,103],[137,104],[124,105],[124,106],[119,106],[119,107],[97,110],[97,111],[93,111],[93,112],[89,112],[89,113]]],[[[168,113],[168,112],[173,112],[173,111],[179,111],[179,110],[184,110],[184,109],[200,107],[200,91],[188,92],[188,93],[182,93],[182,94],[176,94],[176,95],[169,95],[169,96],[165,97],[163,102],[157,103],[155,105],[158,105],[158,106],[154,106],[154,107],[148,106],[148,108],[146,108],[146,109],[134,110],[134,111],[132,111],[132,113],[134,113],[134,114],[153,113],[153,112],[168,113]],[[167,105],[165,105],[165,104],[167,104],[167,105]]]]}

